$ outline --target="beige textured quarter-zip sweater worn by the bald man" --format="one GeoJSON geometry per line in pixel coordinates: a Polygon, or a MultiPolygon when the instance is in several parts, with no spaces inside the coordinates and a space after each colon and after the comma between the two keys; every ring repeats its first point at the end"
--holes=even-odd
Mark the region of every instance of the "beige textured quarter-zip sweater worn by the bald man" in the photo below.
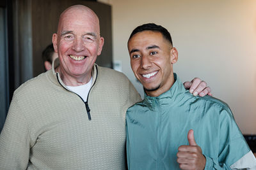
{"type": "Polygon", "coordinates": [[[97,65],[92,84],[88,104],[54,71],[15,90],[0,169],[125,169],[125,112],[140,95],[124,74],[97,65]]]}

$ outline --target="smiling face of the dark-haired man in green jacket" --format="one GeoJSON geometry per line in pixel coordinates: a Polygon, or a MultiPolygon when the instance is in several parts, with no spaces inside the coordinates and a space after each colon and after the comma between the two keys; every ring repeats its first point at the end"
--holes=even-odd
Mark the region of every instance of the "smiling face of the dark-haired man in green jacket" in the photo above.
{"type": "Polygon", "coordinates": [[[159,96],[174,83],[172,64],[178,52],[161,32],[142,31],[128,41],[131,67],[148,96],[159,96]]]}

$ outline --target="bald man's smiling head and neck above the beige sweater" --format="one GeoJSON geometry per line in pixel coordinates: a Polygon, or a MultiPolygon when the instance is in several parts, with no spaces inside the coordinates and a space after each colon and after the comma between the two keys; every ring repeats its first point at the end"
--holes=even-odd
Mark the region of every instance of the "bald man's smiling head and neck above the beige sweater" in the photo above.
{"type": "Polygon", "coordinates": [[[72,86],[87,83],[104,43],[97,15],[81,5],[68,8],[61,14],[52,42],[59,55],[63,82],[72,86]]]}

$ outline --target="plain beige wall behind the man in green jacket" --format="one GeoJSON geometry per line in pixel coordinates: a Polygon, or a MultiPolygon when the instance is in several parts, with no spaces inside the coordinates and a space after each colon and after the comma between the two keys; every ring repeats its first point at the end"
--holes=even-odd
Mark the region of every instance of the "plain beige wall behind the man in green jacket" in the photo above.
{"type": "Polygon", "coordinates": [[[197,76],[230,106],[245,134],[256,134],[256,1],[109,0],[113,59],[142,92],[129,65],[127,39],[147,22],[166,27],[179,51],[174,71],[182,81],[197,76]]]}

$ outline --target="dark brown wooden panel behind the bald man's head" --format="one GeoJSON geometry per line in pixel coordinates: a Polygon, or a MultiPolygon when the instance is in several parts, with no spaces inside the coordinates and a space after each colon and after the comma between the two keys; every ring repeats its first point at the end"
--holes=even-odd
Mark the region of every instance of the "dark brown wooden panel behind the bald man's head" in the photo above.
{"type": "Polygon", "coordinates": [[[33,34],[33,75],[44,72],[42,51],[52,42],[52,34],[57,31],[58,18],[63,10],[74,4],[83,4],[91,8],[100,20],[100,34],[105,43],[102,54],[96,63],[112,67],[112,28],[111,6],[93,1],[79,0],[36,0],[32,1],[32,34],[33,34]]]}

